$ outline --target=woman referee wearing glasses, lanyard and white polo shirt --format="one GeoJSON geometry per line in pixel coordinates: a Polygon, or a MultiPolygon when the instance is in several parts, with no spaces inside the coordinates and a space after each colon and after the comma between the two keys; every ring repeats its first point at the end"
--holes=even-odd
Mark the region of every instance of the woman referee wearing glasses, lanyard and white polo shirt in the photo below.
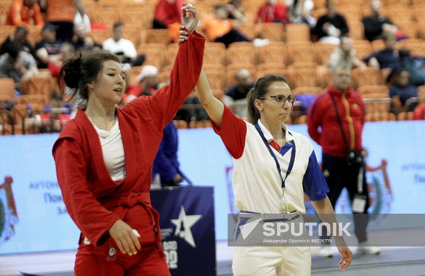
{"type": "MultiPolygon", "coordinates": [[[[184,31],[179,34],[179,43],[185,43],[184,31]]],[[[204,70],[195,89],[215,133],[232,155],[237,209],[305,214],[305,192],[318,214],[334,214],[311,142],[284,124],[297,100],[286,78],[266,75],[257,81],[247,96],[249,122],[237,118],[212,95],[204,70]]],[[[338,246],[343,270],[351,263],[351,251],[342,238],[337,244],[343,245],[338,246]]],[[[309,276],[310,248],[235,247],[232,269],[235,276],[309,276]]]]}

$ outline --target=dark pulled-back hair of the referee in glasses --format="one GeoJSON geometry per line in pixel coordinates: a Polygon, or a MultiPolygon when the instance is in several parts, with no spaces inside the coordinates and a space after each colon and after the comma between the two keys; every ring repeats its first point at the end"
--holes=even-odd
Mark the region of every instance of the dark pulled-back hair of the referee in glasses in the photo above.
{"type": "Polygon", "coordinates": [[[247,107],[248,107],[248,122],[255,125],[260,119],[260,112],[255,107],[255,100],[267,94],[269,85],[275,81],[282,81],[289,85],[288,80],[282,75],[265,75],[259,78],[254,88],[249,90],[246,95],[247,107]]]}

